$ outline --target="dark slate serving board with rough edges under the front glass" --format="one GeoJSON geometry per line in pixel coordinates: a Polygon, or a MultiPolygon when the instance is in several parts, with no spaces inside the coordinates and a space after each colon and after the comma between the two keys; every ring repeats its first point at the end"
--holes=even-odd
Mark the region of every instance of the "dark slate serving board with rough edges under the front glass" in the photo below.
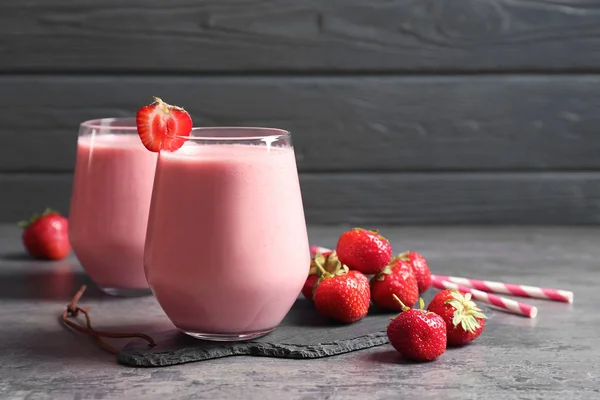
{"type": "Polygon", "coordinates": [[[155,347],[136,339],[117,359],[134,367],[166,367],[228,356],[320,358],[388,343],[386,328],[397,313],[371,310],[353,324],[338,324],[319,315],[305,299],[298,299],[284,321],[270,334],[251,341],[223,343],[191,338],[177,330],[151,334],[155,347]]]}

